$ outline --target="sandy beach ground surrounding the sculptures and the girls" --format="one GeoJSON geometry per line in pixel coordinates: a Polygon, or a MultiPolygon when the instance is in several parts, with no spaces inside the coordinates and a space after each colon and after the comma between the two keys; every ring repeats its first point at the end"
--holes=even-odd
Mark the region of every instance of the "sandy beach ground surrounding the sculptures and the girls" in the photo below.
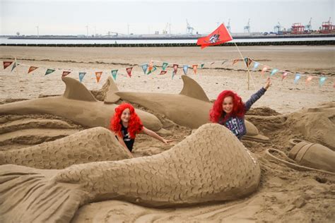
{"type": "MultiPolygon", "coordinates": [[[[334,222],[335,177],[314,171],[296,171],[282,164],[270,162],[264,157],[264,150],[274,147],[288,152],[292,147],[288,140],[295,137],[322,143],[322,136],[306,137],[294,128],[295,120],[301,116],[293,114],[293,111],[304,107],[319,107],[319,104],[324,102],[334,102],[334,79],[331,78],[335,77],[335,47],[240,47],[240,50],[244,56],[249,56],[261,64],[310,76],[319,76],[324,73],[329,77],[324,86],[319,88],[317,78],[306,85],[305,78],[302,77],[295,85],[293,75],[283,81],[281,76],[275,75],[272,77],[271,88],[249,112],[250,116],[247,119],[270,138],[270,143],[242,141],[259,157],[261,163],[261,185],[257,193],[244,200],[230,203],[172,209],[153,209],[110,200],[81,207],[73,222],[334,222]]],[[[5,71],[0,68],[2,103],[36,98],[41,95],[62,94],[65,85],[60,79],[61,70],[73,71],[69,76],[77,79],[78,71],[87,72],[83,83],[89,90],[93,90],[100,100],[103,96],[100,89],[113,69],[119,69],[116,81],[119,90],[177,94],[182,89],[181,68],[177,76],[172,79],[172,68],[168,68],[165,76],[158,76],[158,72],[144,75],[141,67],[136,65],[147,63],[151,59],[180,64],[180,66],[202,64],[223,59],[237,59],[239,54],[235,47],[208,47],[203,50],[196,47],[0,47],[1,61],[14,57],[19,63],[27,66],[18,66],[17,71],[12,73],[10,68],[5,71]],[[40,66],[44,69],[40,68],[33,74],[27,74],[28,66],[40,66]],[[136,66],[132,78],[127,77],[125,72],[125,68],[129,66],[136,66]],[[45,68],[60,70],[44,76],[45,68]],[[96,83],[95,71],[104,72],[100,83],[96,83]]],[[[157,65],[161,66],[161,63],[157,65]]],[[[190,73],[192,72],[189,70],[190,73]]],[[[206,64],[204,69],[198,70],[198,74],[190,76],[204,88],[211,100],[225,89],[235,90],[243,100],[247,100],[266,79],[266,76],[262,76],[260,72],[252,72],[255,88],[251,82],[250,90],[247,90],[247,71],[241,62],[234,66],[231,63],[223,66],[221,63],[212,66],[206,64]]],[[[334,107],[334,104],[332,106],[334,107]]],[[[174,139],[175,142],[163,145],[147,135],[139,135],[134,145],[135,156],[153,155],[168,150],[192,131],[190,128],[172,123],[161,114],[155,115],[163,121],[165,128],[172,131],[173,135],[167,138],[174,139]]],[[[329,139],[331,132],[334,132],[331,129],[335,128],[334,116],[333,113],[329,118],[330,126],[327,128],[317,127],[318,132],[327,135],[329,147],[335,147],[332,143],[334,140],[329,139]]],[[[19,149],[46,140],[55,140],[84,128],[63,118],[47,114],[1,115],[0,127],[0,150],[19,149]]]]}

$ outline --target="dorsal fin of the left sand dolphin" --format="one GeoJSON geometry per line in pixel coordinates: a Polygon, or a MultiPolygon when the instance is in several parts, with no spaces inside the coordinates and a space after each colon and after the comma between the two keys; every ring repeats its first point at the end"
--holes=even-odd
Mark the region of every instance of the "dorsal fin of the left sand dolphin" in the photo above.
{"type": "Polygon", "coordinates": [[[78,80],[74,78],[63,77],[61,80],[64,81],[66,89],[64,91],[63,97],[71,100],[80,100],[87,102],[98,102],[92,93],[78,80]]]}

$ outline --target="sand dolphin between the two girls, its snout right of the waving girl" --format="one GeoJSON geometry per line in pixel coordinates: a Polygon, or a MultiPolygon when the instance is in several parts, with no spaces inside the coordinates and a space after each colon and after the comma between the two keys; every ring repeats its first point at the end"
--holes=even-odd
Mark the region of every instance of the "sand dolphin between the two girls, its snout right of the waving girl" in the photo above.
{"type": "MultiPolygon", "coordinates": [[[[189,128],[199,128],[209,122],[209,111],[213,104],[206,93],[195,80],[182,76],[184,86],[180,94],[146,93],[146,92],[120,92],[111,77],[110,88],[105,97],[106,103],[115,103],[119,99],[141,104],[141,106],[157,111],[167,116],[175,123],[189,128]]],[[[256,126],[245,120],[247,134],[243,137],[261,142],[269,141],[260,135],[256,126]]]]}

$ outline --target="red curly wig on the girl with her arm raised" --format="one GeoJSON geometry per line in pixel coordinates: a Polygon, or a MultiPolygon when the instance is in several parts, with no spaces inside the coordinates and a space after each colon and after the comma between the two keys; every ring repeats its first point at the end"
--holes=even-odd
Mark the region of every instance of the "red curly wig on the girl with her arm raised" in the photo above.
{"type": "Polygon", "coordinates": [[[213,104],[211,111],[209,112],[209,120],[213,123],[218,123],[220,118],[223,117],[223,122],[226,121],[230,116],[237,116],[242,118],[245,115],[245,103],[242,102],[240,96],[231,90],[224,90],[218,95],[218,98],[213,104]],[[233,98],[233,111],[229,115],[223,116],[222,103],[225,97],[233,98]]]}

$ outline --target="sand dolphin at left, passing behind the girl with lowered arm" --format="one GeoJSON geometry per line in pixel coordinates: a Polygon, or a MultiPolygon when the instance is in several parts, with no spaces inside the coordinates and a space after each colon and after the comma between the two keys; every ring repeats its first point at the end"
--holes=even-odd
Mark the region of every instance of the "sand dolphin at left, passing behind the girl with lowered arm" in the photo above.
{"type": "MultiPolygon", "coordinates": [[[[66,84],[64,95],[0,105],[0,114],[53,114],[83,126],[108,128],[110,117],[117,104],[105,104],[95,99],[85,85],[73,78],[63,77],[66,84]]],[[[146,128],[166,133],[160,120],[146,111],[136,109],[146,128]]]]}

